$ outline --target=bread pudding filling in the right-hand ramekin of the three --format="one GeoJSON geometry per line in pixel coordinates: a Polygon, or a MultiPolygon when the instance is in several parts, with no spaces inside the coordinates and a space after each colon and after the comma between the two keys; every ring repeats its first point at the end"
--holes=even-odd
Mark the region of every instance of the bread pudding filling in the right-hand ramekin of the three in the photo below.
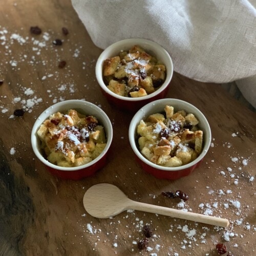
{"type": "Polygon", "coordinates": [[[165,105],[164,113],[140,120],[137,126],[141,154],[151,162],[177,167],[195,160],[202,151],[203,132],[194,114],[184,110],[175,113],[165,105]]]}

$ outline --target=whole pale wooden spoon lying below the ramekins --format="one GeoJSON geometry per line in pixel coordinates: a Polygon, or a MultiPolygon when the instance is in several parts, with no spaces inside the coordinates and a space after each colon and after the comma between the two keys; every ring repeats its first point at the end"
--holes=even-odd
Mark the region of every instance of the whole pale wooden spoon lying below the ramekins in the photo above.
{"type": "Polygon", "coordinates": [[[134,209],[220,227],[229,225],[226,219],[133,201],[118,187],[108,183],[90,187],[83,196],[83,206],[90,215],[102,219],[116,216],[124,210],[134,209]]]}

